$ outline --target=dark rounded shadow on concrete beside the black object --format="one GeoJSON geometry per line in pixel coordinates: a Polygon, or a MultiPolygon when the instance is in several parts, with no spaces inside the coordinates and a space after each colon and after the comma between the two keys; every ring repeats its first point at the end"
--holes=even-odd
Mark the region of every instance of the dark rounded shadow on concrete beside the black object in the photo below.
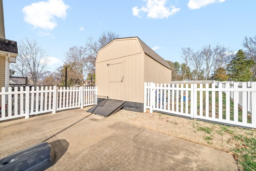
{"type": "MultiPolygon", "coordinates": [[[[55,151],[55,163],[66,153],[69,143],[66,139],[58,139],[49,143],[55,151]]],[[[54,163],[54,164],[55,164],[54,163]]]]}

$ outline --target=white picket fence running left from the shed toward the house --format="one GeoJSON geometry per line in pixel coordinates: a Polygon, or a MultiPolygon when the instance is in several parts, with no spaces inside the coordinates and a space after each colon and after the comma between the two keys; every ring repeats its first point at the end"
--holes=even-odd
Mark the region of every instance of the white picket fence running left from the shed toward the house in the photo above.
{"type": "Polygon", "coordinates": [[[97,104],[97,87],[2,87],[0,121],[97,104]]]}

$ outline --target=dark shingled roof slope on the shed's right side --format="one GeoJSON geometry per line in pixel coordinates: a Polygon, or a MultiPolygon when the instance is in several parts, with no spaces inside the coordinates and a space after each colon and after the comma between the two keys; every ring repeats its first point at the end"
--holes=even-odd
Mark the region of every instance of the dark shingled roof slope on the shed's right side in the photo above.
{"type": "Polygon", "coordinates": [[[140,45],[142,46],[143,51],[146,54],[148,54],[154,60],[158,61],[160,64],[162,64],[162,65],[166,66],[167,68],[171,69],[170,65],[168,64],[168,62],[166,60],[164,60],[161,56],[159,56],[156,52],[154,52],[154,50],[152,50],[150,47],[148,47],[148,45],[146,45],[144,42],[142,42],[142,40],[140,40],[140,38],[138,38],[138,40],[140,41],[140,45]]]}

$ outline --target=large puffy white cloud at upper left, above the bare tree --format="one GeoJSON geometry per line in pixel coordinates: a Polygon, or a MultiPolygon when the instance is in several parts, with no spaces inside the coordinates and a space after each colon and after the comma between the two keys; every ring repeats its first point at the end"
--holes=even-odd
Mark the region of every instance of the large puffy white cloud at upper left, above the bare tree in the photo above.
{"type": "Polygon", "coordinates": [[[69,8],[62,0],[48,0],[32,3],[22,9],[24,21],[44,30],[53,30],[57,26],[56,18],[66,18],[69,8]]]}

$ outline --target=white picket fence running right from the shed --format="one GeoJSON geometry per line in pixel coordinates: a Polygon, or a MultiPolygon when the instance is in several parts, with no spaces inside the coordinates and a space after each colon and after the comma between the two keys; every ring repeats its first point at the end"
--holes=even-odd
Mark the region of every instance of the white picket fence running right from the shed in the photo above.
{"type": "Polygon", "coordinates": [[[181,115],[240,127],[256,128],[256,82],[251,87],[230,87],[215,84],[144,84],[144,112],[146,109],[171,115],[181,115]],[[242,106],[239,105],[242,94],[242,106]],[[233,94],[233,98],[230,98],[233,94]],[[248,97],[250,96],[250,98],[248,97]],[[250,102],[248,102],[250,99],[250,102]]]}

